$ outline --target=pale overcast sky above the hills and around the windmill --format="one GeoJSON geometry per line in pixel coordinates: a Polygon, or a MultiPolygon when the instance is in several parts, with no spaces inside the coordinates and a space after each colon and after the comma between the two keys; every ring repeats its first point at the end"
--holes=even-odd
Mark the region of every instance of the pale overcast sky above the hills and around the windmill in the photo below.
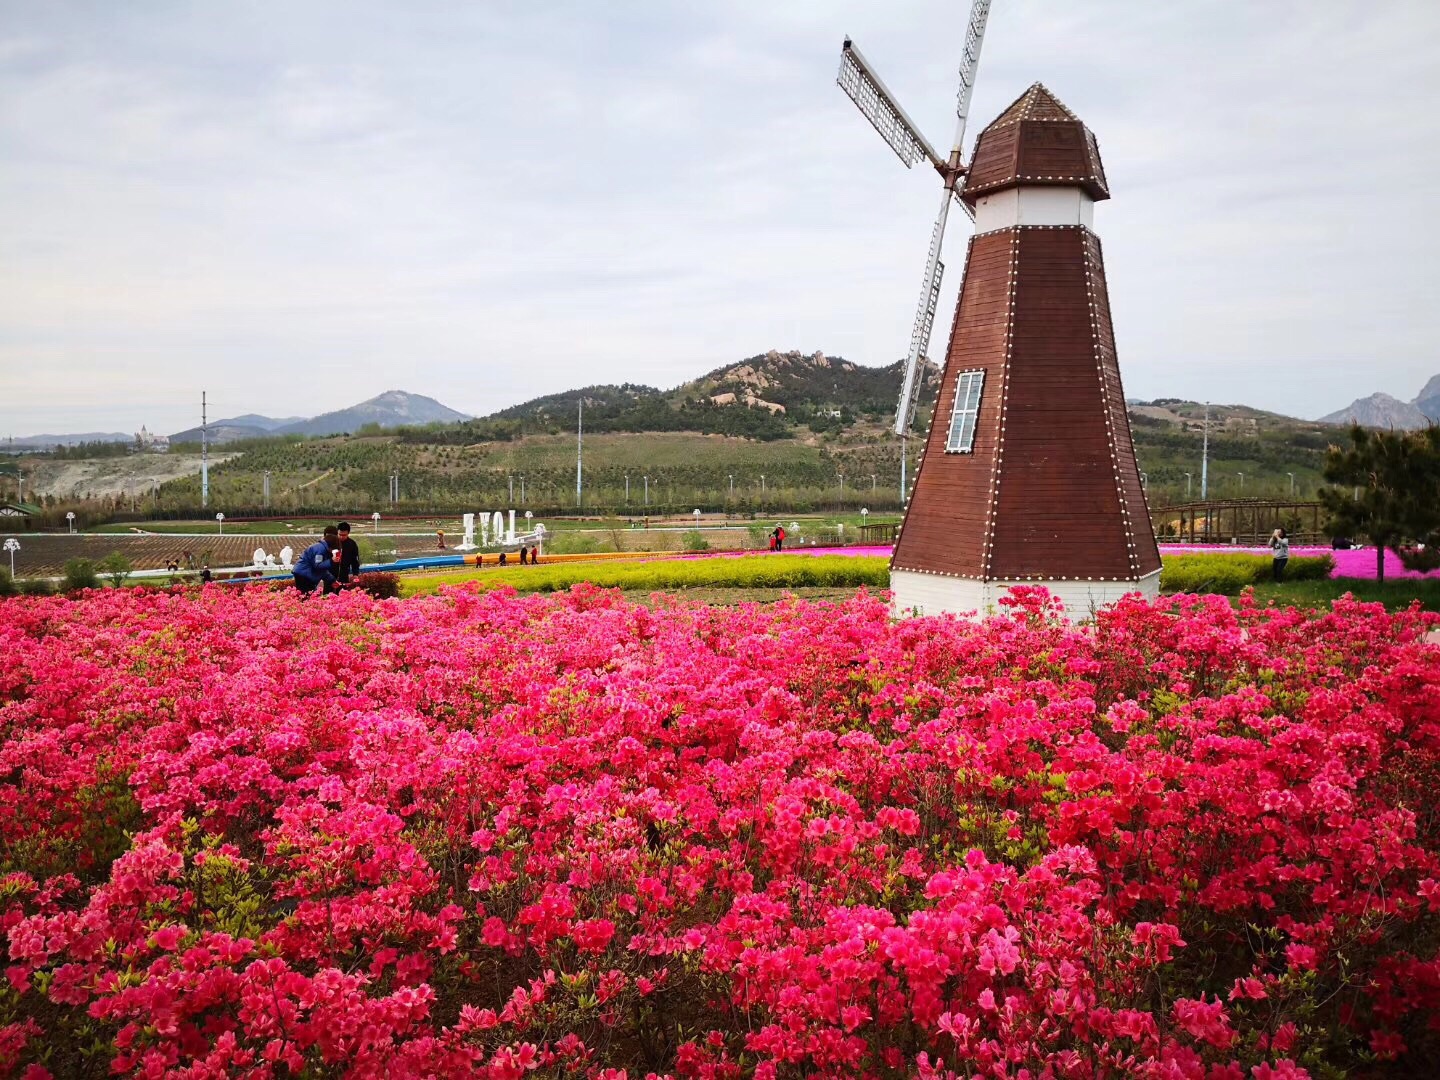
{"type": "MultiPolygon", "coordinates": [[[[891,363],[939,181],[840,43],[948,144],[965,16],[0,0],[0,433],[891,363]]],[[[1129,396],[1318,416],[1440,373],[1437,72],[1436,0],[995,0],[971,138],[1037,79],[1097,134],[1129,396]]]]}

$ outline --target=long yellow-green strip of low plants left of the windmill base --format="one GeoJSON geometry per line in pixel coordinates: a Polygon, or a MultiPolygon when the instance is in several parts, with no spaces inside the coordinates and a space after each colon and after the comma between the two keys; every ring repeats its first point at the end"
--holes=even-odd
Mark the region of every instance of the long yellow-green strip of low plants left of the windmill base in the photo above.
{"type": "Polygon", "coordinates": [[[403,595],[432,593],[442,585],[475,580],[518,592],[559,592],[580,582],[608,589],[850,589],[890,588],[888,559],[844,554],[756,554],[733,559],[661,559],[636,563],[554,563],[481,570],[478,575],[422,575],[403,579],[403,595]]]}

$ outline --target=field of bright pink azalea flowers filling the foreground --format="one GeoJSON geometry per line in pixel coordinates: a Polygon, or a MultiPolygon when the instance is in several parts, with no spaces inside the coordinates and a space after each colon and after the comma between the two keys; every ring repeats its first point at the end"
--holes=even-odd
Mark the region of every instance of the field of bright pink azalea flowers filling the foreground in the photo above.
{"type": "Polygon", "coordinates": [[[0,602],[0,1074],[1440,1061],[1434,616],[0,602]]]}

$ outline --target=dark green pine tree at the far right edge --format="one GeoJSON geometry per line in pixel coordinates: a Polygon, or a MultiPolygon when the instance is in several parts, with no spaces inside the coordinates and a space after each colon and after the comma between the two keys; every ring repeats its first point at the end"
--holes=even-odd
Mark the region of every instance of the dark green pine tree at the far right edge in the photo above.
{"type": "Polygon", "coordinates": [[[1372,431],[1355,425],[1349,446],[1325,456],[1320,490],[1335,536],[1362,536],[1375,546],[1375,576],[1385,580],[1385,550],[1417,569],[1440,566],[1440,426],[1424,431],[1372,431]],[[1403,546],[1418,541],[1423,553],[1403,546]]]}

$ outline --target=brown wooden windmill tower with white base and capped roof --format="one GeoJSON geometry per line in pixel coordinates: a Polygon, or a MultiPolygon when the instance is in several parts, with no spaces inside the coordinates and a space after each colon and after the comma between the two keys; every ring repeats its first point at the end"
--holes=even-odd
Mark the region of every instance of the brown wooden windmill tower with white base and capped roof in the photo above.
{"type": "MultiPolygon", "coordinates": [[[[953,192],[975,236],[891,559],[896,611],[984,613],[1014,585],[1044,585],[1073,618],[1128,592],[1153,596],[1159,550],[1092,228],[1094,203],[1110,197],[1099,145],[1040,84],[981,132],[969,168],[959,141],[942,171],[946,207],[953,192]]],[[[939,264],[943,223],[942,209],[929,265],[939,264]]],[[[927,269],[922,314],[933,315],[937,289],[939,272],[927,269]]],[[[913,338],[900,435],[929,338],[920,318],[913,338]]]]}

